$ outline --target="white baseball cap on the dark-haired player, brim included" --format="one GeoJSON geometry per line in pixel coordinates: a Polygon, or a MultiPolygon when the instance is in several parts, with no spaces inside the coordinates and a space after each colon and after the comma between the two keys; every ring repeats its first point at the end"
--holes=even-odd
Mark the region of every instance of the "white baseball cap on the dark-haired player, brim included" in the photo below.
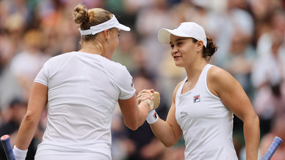
{"type": "Polygon", "coordinates": [[[158,40],[161,43],[170,43],[170,34],[179,37],[191,37],[197,40],[202,40],[204,46],[207,47],[206,33],[203,27],[194,22],[183,22],[180,25],[171,29],[162,28],[158,33],[158,40]]]}

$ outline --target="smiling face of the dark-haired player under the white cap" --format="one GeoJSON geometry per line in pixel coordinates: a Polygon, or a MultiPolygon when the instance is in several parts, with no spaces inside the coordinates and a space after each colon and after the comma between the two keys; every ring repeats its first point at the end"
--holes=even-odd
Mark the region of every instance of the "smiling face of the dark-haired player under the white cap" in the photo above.
{"type": "MultiPolygon", "coordinates": [[[[170,35],[171,56],[178,67],[189,67],[200,54],[197,54],[197,42],[192,38],[170,35]]],[[[200,55],[201,56],[201,55],[200,55]]]]}

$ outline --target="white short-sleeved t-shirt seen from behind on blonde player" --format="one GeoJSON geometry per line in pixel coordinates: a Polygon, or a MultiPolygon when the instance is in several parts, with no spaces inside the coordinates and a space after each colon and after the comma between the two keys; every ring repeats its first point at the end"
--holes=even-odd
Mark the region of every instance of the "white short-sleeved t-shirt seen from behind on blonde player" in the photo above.
{"type": "Polygon", "coordinates": [[[37,154],[96,152],[111,159],[115,105],[135,93],[126,67],[101,55],[69,52],[50,58],[34,82],[48,87],[47,128],[37,154]]]}

